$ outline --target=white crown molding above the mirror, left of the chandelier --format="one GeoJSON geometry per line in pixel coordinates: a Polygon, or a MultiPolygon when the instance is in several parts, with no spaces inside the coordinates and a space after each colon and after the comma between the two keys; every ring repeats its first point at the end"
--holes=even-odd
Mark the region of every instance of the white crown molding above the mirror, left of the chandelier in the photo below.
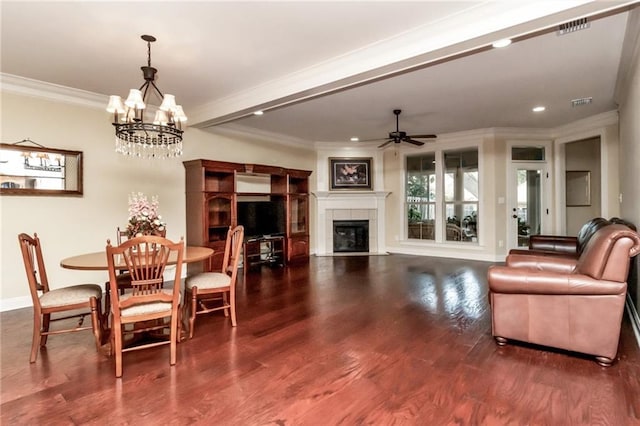
{"type": "Polygon", "coordinates": [[[107,95],[33,80],[13,74],[0,73],[0,86],[2,87],[2,91],[7,93],[15,93],[90,108],[105,109],[109,100],[107,95]]]}

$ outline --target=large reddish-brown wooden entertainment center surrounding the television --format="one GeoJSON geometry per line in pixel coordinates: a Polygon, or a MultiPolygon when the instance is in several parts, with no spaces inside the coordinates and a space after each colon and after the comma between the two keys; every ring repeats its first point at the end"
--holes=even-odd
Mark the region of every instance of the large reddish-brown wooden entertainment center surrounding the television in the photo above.
{"type": "MultiPolygon", "coordinates": [[[[245,267],[267,261],[277,262],[280,258],[283,264],[309,259],[311,171],[204,159],[183,164],[186,174],[186,242],[214,250],[209,270],[218,271],[222,266],[229,226],[243,225],[238,223],[238,202],[243,200],[281,203],[285,220],[281,235],[245,235],[245,267]],[[244,188],[238,190],[239,181],[245,177],[264,180],[266,187],[256,192],[251,189],[245,191],[244,188]]],[[[190,264],[188,267],[189,273],[193,273],[202,266],[190,264]]]]}

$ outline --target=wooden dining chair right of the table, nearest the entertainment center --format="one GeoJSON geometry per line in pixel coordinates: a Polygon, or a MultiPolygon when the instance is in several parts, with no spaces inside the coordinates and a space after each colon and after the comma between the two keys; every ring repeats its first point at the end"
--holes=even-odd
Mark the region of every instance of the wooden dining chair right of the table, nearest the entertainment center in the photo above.
{"type": "Polygon", "coordinates": [[[196,315],[224,310],[231,315],[231,325],[236,321],[236,281],[238,262],[244,239],[244,227],[229,227],[220,272],[200,272],[187,277],[184,295],[184,316],[189,310],[189,338],[193,337],[196,315]]]}

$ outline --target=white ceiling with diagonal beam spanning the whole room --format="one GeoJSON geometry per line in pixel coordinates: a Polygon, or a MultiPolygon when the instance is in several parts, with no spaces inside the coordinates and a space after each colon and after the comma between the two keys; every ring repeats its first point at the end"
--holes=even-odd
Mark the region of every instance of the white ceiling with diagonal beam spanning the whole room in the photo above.
{"type": "Polygon", "coordinates": [[[140,35],[152,34],[157,85],[198,127],[345,142],[384,138],[401,108],[408,133],[549,128],[616,109],[627,13],[601,15],[630,5],[2,1],[0,70],[125,96],[143,82],[140,35]],[[590,28],[549,30],[581,16],[594,17],[590,28]],[[486,48],[507,36],[520,41],[486,48]],[[582,97],[593,103],[571,108],[582,97]],[[532,113],[539,104],[547,110],[532,113]]]}

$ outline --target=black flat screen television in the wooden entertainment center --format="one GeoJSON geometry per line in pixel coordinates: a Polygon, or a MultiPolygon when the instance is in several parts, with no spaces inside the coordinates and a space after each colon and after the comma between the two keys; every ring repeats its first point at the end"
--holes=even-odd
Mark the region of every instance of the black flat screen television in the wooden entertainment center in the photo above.
{"type": "Polygon", "coordinates": [[[245,239],[265,235],[284,235],[284,199],[238,201],[238,225],[244,226],[245,239]]]}

